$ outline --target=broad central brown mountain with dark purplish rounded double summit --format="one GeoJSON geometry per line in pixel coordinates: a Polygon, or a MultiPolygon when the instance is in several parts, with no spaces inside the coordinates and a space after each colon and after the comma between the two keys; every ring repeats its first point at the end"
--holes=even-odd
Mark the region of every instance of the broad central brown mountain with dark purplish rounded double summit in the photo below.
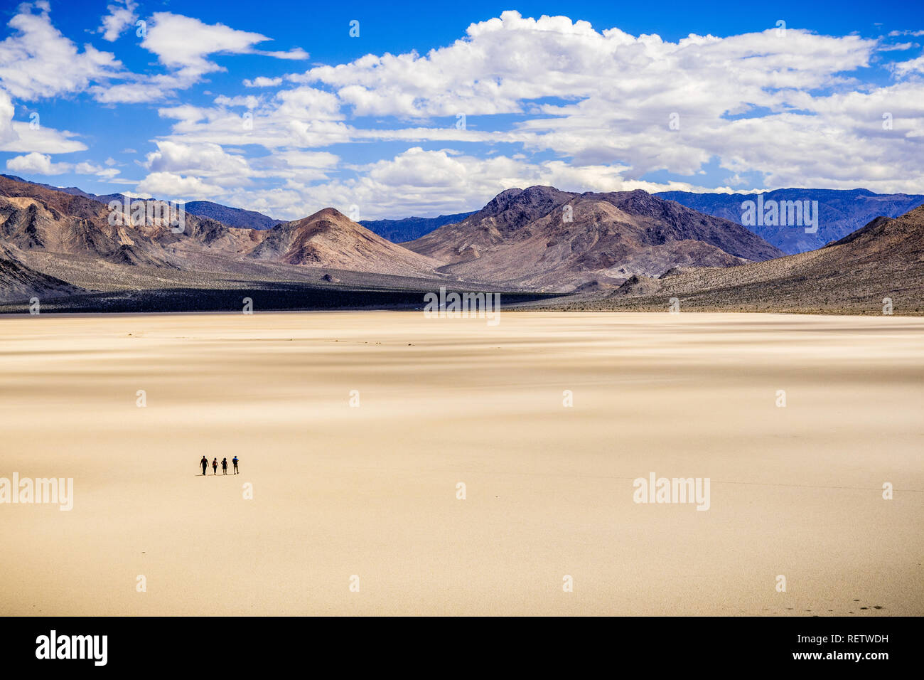
{"type": "Polygon", "coordinates": [[[502,192],[461,222],[404,245],[459,278],[547,291],[783,254],[740,225],[646,192],[541,186],[502,192]]]}

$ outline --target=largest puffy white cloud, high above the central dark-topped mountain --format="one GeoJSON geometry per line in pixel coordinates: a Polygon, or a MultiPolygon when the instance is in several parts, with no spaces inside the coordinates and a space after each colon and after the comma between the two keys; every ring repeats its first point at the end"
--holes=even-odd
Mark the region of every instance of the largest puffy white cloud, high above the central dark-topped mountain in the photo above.
{"type": "Polygon", "coordinates": [[[523,113],[528,100],[541,97],[606,102],[628,97],[653,107],[687,95],[691,105],[727,108],[742,98],[766,102],[771,88],[830,85],[834,74],[865,66],[875,44],[796,30],[784,38],[768,30],[667,43],[618,29],[594,31],[586,21],[528,19],[507,11],[500,19],[472,24],[467,39],[426,56],[367,55],[290,80],[332,87],[359,116],[523,113]]]}

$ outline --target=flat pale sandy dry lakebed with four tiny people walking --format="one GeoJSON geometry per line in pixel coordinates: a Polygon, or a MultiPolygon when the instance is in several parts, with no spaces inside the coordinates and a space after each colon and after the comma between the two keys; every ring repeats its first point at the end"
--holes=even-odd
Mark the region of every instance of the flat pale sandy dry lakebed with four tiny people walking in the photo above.
{"type": "Polygon", "coordinates": [[[4,614],[924,613],[922,318],[3,318],[0,427],[75,484],[0,505],[4,614]]]}

